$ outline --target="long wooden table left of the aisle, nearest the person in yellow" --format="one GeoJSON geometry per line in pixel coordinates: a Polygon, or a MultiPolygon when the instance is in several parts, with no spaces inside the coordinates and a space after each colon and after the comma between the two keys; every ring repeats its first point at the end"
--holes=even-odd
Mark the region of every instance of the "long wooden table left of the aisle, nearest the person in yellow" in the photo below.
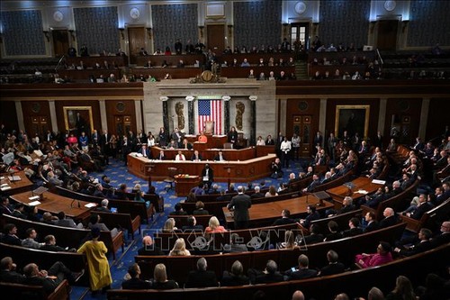
{"type": "MultiPolygon", "coordinates": [[[[31,192],[24,192],[21,194],[11,195],[11,199],[16,202],[23,203],[24,205],[29,205],[32,201],[29,198],[32,196],[31,192]]],[[[42,198],[38,199],[40,205],[38,205],[39,211],[49,212],[51,214],[58,214],[59,212],[64,212],[67,217],[73,218],[77,221],[83,221],[87,219],[93,208],[87,208],[89,202],[75,200],[67,198],[62,195],[56,195],[50,193],[49,191],[42,194],[42,198]],[[79,207],[78,207],[79,204],[79,207]]]]}

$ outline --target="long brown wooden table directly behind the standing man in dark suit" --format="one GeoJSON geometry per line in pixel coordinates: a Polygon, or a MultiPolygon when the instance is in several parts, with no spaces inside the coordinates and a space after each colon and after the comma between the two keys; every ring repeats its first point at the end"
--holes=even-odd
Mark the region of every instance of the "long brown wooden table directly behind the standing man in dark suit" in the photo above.
{"type": "MultiPolygon", "coordinates": [[[[267,198],[270,201],[270,198],[267,198]]],[[[292,218],[298,218],[302,214],[306,214],[306,207],[308,205],[318,205],[319,199],[314,195],[303,195],[301,197],[291,198],[282,201],[266,202],[259,205],[252,205],[248,210],[250,214],[250,226],[263,225],[273,223],[276,219],[281,218],[281,213],[284,209],[291,212],[292,218]]],[[[316,206],[318,211],[326,210],[333,207],[327,201],[323,202],[322,206],[316,206]]],[[[222,207],[225,220],[229,227],[234,223],[233,215],[229,212],[227,207],[222,207]]]]}

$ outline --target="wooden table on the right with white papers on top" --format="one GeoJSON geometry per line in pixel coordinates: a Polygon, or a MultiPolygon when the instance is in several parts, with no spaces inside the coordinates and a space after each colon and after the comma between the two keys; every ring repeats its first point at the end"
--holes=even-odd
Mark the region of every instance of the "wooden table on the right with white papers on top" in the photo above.
{"type": "Polygon", "coordinates": [[[358,193],[359,190],[365,190],[370,193],[374,193],[378,189],[378,187],[383,186],[379,184],[374,184],[372,179],[367,177],[357,177],[352,181],[354,185],[353,188],[348,188],[347,186],[336,186],[327,190],[327,193],[336,201],[339,208],[342,205],[342,201],[347,195],[350,195],[353,198],[353,201],[356,199],[365,196],[365,193],[358,193]]]}

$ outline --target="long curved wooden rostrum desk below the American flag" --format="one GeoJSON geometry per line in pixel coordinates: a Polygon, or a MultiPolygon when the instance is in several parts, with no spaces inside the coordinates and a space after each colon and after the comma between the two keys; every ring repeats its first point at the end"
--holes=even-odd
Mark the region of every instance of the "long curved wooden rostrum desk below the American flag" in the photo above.
{"type": "Polygon", "coordinates": [[[214,181],[227,182],[229,178],[235,182],[247,182],[268,177],[271,173],[270,164],[275,160],[275,154],[265,157],[240,161],[177,161],[153,160],[136,157],[135,153],[128,155],[128,171],[140,178],[148,180],[149,166],[153,165],[151,177],[153,180],[163,180],[168,177],[168,168],[175,167],[178,174],[202,174],[204,165],[208,163],[214,171],[214,181]],[[228,173],[228,168],[230,173],[228,173]]]}

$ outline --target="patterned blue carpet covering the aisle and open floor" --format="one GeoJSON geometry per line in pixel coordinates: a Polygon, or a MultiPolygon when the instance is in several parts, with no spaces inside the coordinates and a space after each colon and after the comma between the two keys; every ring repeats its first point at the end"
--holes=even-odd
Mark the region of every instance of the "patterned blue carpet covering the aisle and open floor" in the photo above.
{"type": "MultiPolygon", "coordinates": [[[[301,159],[300,161],[292,161],[290,168],[284,168],[284,177],[279,179],[274,179],[271,177],[265,177],[259,180],[252,182],[254,185],[259,185],[262,181],[266,183],[266,186],[275,185],[278,186],[288,181],[288,177],[290,173],[299,174],[304,168],[307,167],[308,160],[301,159]]],[[[92,177],[98,178],[101,181],[102,176],[106,175],[111,178],[112,186],[119,186],[122,183],[125,183],[129,190],[136,185],[140,184],[142,186],[143,191],[148,190],[148,182],[139,177],[135,177],[128,173],[127,168],[123,166],[123,161],[119,159],[110,159],[110,165],[104,169],[103,173],[91,173],[92,177]]],[[[177,197],[175,195],[174,190],[169,190],[166,192],[164,189],[166,184],[162,181],[153,181],[153,186],[157,188],[157,193],[159,195],[164,196],[165,205],[164,205],[164,213],[157,214],[152,223],[142,224],[141,232],[146,234],[148,231],[156,231],[161,229],[163,224],[166,221],[166,215],[174,210],[174,205],[178,202],[184,201],[185,197],[177,197]]],[[[217,182],[220,188],[227,188],[227,183],[217,182]]],[[[247,182],[235,182],[235,186],[243,185],[247,186],[247,182]]],[[[117,253],[116,261],[110,260],[111,273],[112,273],[112,288],[120,288],[123,277],[127,273],[128,267],[134,263],[134,256],[137,254],[138,249],[141,247],[141,237],[138,233],[135,234],[134,240],[127,241],[127,245],[123,253],[121,250],[117,253]]],[[[92,300],[92,299],[106,299],[105,294],[91,295],[89,288],[86,286],[73,286],[72,300],[92,300]]]]}

